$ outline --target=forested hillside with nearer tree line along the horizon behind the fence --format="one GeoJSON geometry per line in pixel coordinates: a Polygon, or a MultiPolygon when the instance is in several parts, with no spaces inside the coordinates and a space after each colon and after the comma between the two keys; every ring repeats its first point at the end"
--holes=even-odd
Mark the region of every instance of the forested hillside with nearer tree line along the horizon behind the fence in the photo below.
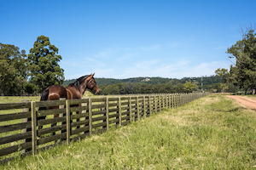
{"type": "MultiPolygon", "coordinates": [[[[74,82],[64,81],[64,86],[74,82]]],[[[102,89],[102,94],[160,94],[160,93],[191,93],[194,91],[220,92],[219,84],[224,82],[223,78],[212,76],[184,77],[182,79],[162,77],[134,77],[127,79],[96,78],[97,85],[102,89]]],[[[231,84],[227,92],[233,92],[235,87],[231,84]]]]}

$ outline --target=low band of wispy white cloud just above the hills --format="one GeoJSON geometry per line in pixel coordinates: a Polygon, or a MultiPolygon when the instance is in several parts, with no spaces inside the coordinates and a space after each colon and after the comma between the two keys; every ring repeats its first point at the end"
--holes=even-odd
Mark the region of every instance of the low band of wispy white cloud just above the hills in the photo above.
{"type": "Polygon", "coordinates": [[[169,77],[169,78],[183,78],[183,77],[201,77],[214,75],[214,71],[219,67],[227,68],[227,63],[220,63],[219,61],[204,62],[197,65],[192,65],[189,60],[178,61],[171,65],[159,63],[157,60],[145,61],[142,63],[135,63],[134,65],[127,65],[122,69],[104,69],[97,70],[98,77],[112,77],[112,78],[129,78],[129,77],[169,77]]]}

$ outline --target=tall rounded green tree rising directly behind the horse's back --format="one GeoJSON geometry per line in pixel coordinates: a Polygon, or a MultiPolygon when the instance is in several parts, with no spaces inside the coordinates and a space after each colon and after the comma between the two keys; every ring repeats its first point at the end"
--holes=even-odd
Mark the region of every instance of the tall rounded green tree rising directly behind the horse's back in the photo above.
{"type": "Polygon", "coordinates": [[[54,84],[62,84],[64,81],[64,70],[58,62],[61,55],[59,49],[49,42],[49,37],[40,36],[34,42],[33,48],[28,54],[29,71],[31,82],[38,86],[39,92],[54,84]]]}

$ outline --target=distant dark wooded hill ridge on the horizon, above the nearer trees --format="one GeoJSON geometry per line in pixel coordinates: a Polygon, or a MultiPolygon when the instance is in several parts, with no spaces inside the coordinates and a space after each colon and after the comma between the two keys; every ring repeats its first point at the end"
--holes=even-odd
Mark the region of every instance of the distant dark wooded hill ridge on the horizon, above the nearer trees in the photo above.
{"type": "MultiPolygon", "coordinates": [[[[70,83],[75,82],[76,79],[66,80],[63,82],[63,85],[68,85],[70,83]]],[[[163,78],[163,77],[134,77],[134,78],[126,78],[126,79],[114,79],[114,78],[96,78],[97,85],[111,85],[117,82],[125,83],[125,82],[141,82],[147,84],[166,84],[171,83],[172,85],[177,85],[178,83],[185,82],[197,82],[198,85],[201,85],[201,77],[183,77],[182,79],[172,79],[172,78],[163,78]]],[[[221,77],[211,76],[211,77],[203,77],[203,85],[212,85],[214,83],[224,82],[221,77]]]]}

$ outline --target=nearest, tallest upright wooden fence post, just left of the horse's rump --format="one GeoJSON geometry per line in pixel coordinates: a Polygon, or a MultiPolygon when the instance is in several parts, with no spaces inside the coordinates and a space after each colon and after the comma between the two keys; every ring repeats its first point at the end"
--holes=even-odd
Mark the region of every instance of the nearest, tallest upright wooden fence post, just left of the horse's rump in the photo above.
{"type": "Polygon", "coordinates": [[[37,111],[36,111],[36,102],[31,102],[31,117],[32,117],[32,155],[37,154],[37,111]]]}

